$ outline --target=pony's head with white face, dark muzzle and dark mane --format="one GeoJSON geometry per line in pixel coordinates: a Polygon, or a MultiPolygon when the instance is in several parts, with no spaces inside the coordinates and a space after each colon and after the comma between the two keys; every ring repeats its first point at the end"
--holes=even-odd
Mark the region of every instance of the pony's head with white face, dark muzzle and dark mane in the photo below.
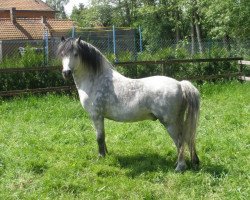
{"type": "Polygon", "coordinates": [[[57,51],[62,58],[62,74],[68,78],[72,72],[78,69],[85,69],[96,73],[101,68],[102,54],[91,44],[84,42],[81,38],[62,37],[57,51]]]}

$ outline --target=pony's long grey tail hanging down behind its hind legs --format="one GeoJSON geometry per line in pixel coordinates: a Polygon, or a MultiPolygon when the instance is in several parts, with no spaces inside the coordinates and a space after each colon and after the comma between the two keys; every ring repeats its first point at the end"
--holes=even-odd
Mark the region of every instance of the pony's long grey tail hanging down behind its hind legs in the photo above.
{"type": "Polygon", "coordinates": [[[200,111],[199,91],[189,81],[181,81],[183,101],[186,105],[182,134],[190,147],[191,156],[195,152],[196,128],[200,111]]]}

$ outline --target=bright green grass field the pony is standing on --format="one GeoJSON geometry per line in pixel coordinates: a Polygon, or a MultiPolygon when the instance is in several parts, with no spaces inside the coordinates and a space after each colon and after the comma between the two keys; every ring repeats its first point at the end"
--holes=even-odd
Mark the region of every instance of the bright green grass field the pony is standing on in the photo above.
{"type": "Polygon", "coordinates": [[[78,98],[0,100],[0,199],[250,199],[250,84],[199,87],[198,171],[175,173],[159,122],[106,121],[109,155],[78,98]]]}

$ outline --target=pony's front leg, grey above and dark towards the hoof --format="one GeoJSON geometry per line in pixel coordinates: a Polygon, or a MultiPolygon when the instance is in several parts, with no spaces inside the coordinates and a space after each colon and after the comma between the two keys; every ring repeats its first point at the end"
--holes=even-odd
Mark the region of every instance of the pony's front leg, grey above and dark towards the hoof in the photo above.
{"type": "Polygon", "coordinates": [[[99,156],[105,157],[108,151],[105,143],[104,118],[93,117],[93,122],[96,129],[96,141],[98,144],[99,156]]]}

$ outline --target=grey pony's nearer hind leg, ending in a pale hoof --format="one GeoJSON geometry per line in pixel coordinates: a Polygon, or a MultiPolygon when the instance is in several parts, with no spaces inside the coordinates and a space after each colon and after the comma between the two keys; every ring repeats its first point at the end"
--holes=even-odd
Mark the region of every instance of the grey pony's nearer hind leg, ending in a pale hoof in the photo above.
{"type": "Polygon", "coordinates": [[[168,125],[167,130],[177,148],[178,159],[177,159],[177,166],[175,168],[175,171],[182,172],[187,168],[186,161],[185,161],[185,148],[184,148],[185,142],[184,142],[184,138],[182,137],[182,132],[180,128],[175,124],[168,125]]]}

